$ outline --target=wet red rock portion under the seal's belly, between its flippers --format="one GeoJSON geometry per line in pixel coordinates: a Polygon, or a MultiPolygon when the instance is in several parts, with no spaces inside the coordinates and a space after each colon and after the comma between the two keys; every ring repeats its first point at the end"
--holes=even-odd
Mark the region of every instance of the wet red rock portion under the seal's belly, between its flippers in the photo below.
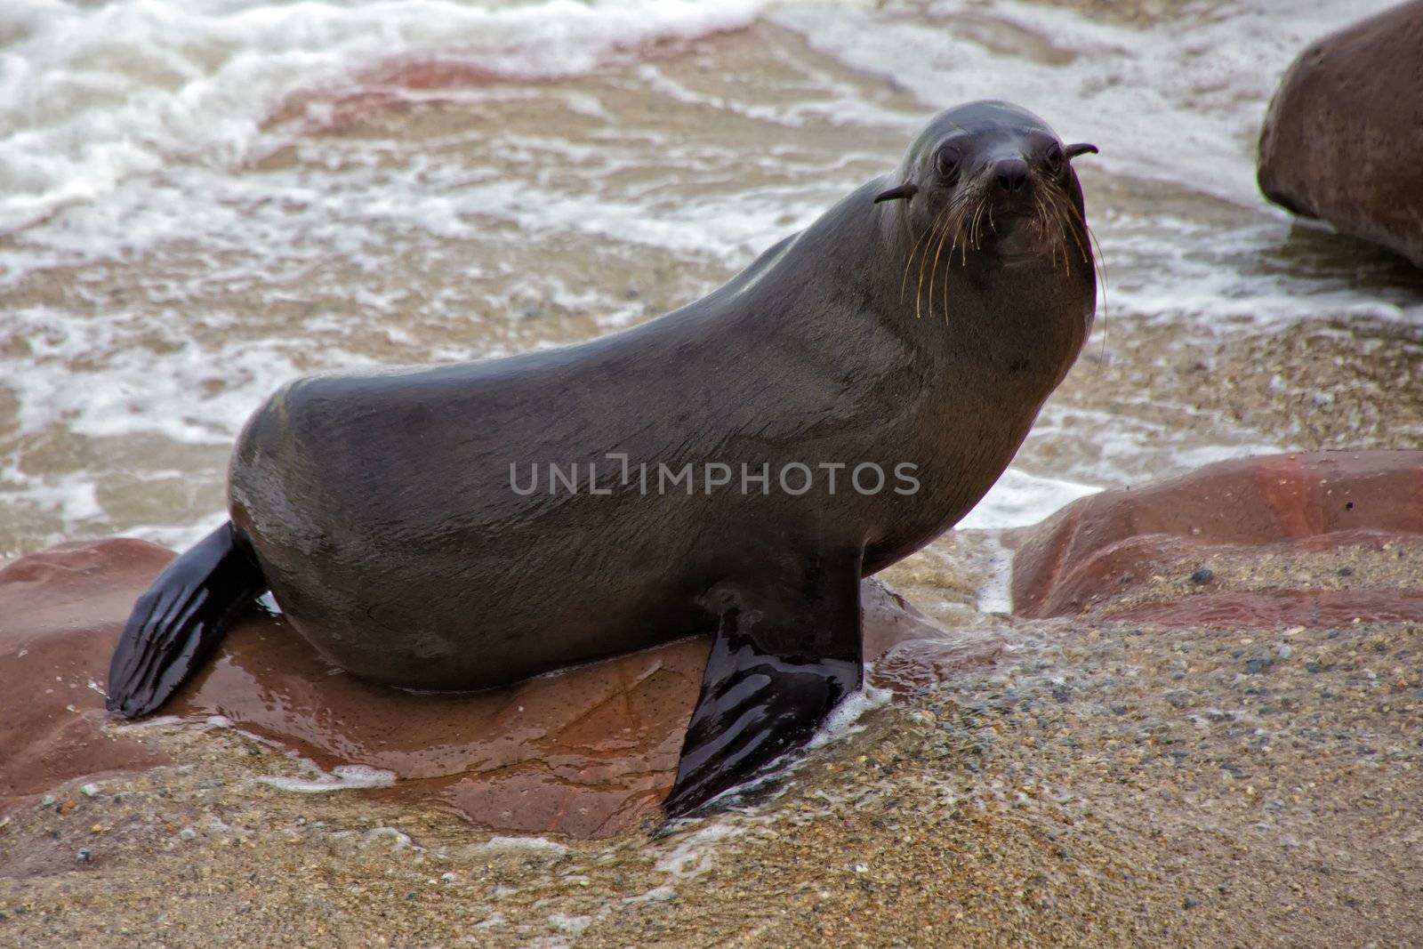
{"type": "Polygon", "coordinates": [[[279,619],[232,630],[164,711],[219,714],[324,768],[400,781],[505,831],[596,837],[672,787],[707,642],[679,643],[482,693],[404,693],[334,670],[279,619]]]}

